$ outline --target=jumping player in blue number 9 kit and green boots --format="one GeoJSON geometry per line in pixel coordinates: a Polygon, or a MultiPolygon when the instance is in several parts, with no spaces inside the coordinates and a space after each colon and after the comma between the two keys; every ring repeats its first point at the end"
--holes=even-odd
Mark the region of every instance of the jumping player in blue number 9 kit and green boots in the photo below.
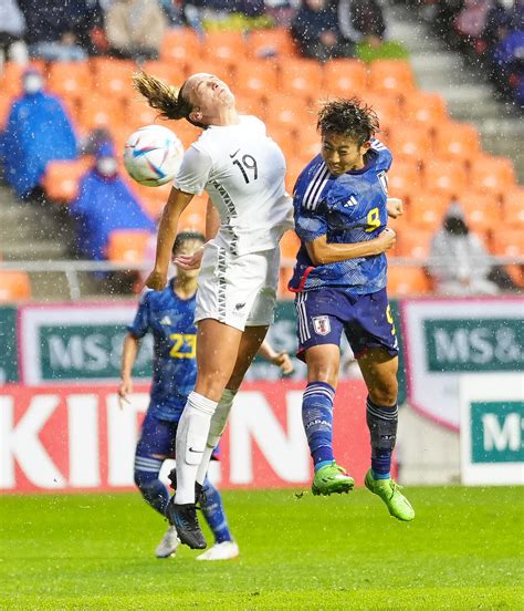
{"type": "Polygon", "coordinates": [[[290,289],[296,292],[298,356],[307,364],[302,416],[313,457],[315,495],[347,493],[354,480],[333,455],[333,402],[342,333],[358,359],[368,389],[366,420],[371,468],[365,485],[391,516],[409,521],[415,511],[391,479],[397,437],[396,330],[386,294],[387,172],[391,154],[374,135],[375,112],[357,99],[327,102],[318,114],[322,153],[302,172],[294,189],[295,230],[301,248],[290,289]]]}

